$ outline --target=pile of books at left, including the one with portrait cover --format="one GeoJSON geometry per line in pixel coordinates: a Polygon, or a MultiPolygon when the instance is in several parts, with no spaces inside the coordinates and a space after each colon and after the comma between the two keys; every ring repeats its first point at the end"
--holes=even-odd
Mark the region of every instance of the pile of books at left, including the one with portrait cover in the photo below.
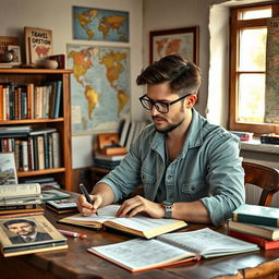
{"type": "Polygon", "coordinates": [[[38,183],[0,187],[0,250],[4,257],[66,248],[66,239],[45,218],[38,183]]]}

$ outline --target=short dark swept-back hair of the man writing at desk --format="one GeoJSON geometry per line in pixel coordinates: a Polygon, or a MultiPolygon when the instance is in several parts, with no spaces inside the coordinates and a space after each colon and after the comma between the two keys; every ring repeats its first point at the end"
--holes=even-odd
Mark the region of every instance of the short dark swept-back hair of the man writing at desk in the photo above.
{"type": "Polygon", "coordinates": [[[136,78],[137,85],[169,82],[179,95],[197,94],[201,86],[201,69],[180,54],[166,56],[148,65],[136,78]]]}

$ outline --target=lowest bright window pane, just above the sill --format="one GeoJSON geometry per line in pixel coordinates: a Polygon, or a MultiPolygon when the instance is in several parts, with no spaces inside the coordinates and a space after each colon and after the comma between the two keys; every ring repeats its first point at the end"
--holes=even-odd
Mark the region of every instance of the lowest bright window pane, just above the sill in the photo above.
{"type": "Polygon", "coordinates": [[[264,122],[265,75],[240,74],[238,121],[264,122]]]}

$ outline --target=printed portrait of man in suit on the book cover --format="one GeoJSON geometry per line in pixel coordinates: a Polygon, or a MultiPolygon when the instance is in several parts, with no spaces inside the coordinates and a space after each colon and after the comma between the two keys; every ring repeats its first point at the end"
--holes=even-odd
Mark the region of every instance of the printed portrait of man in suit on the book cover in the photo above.
{"type": "Polygon", "coordinates": [[[32,243],[44,240],[51,240],[48,233],[36,231],[36,223],[26,219],[14,219],[3,223],[15,236],[11,236],[10,241],[13,244],[32,243]]]}

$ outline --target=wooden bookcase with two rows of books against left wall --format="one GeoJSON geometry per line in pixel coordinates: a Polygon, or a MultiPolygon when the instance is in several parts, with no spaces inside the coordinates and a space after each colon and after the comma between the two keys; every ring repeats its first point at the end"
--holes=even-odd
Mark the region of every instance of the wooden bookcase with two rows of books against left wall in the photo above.
{"type": "MultiPolygon", "coordinates": [[[[37,138],[44,137],[44,158],[45,163],[40,165],[39,167],[35,166],[36,163],[33,162],[34,156],[32,157],[29,154],[29,149],[32,153],[39,154],[39,149],[36,149],[32,145],[28,147],[28,166],[25,166],[25,169],[17,168],[17,177],[19,182],[22,182],[23,178],[38,178],[38,177],[54,177],[58,183],[65,190],[72,191],[73,189],[73,172],[72,172],[72,149],[71,149],[71,101],[70,101],[70,74],[72,70],[50,70],[50,69],[0,69],[0,129],[8,129],[9,128],[23,128],[23,125],[28,125],[32,129],[29,135],[23,136],[13,136],[9,135],[5,138],[5,135],[0,136],[0,142],[10,144],[9,150],[3,150],[3,146],[5,144],[0,145],[0,151],[15,151],[11,150],[14,148],[15,142],[19,140],[20,142],[27,142],[29,138],[38,141],[37,138]],[[9,106],[4,102],[3,89],[1,93],[1,85],[2,88],[5,88],[7,83],[12,84],[12,89],[9,88],[9,93],[5,93],[9,96],[9,106]],[[32,87],[32,92],[28,92],[28,85],[32,87]],[[22,93],[16,93],[16,88],[22,87],[26,90],[26,96],[22,95],[22,93]],[[45,87],[41,95],[43,99],[37,101],[34,97],[37,95],[37,88],[45,87]],[[47,88],[48,87],[48,88],[47,88]],[[14,89],[15,88],[15,89],[14,89]],[[48,98],[45,97],[47,93],[48,98]],[[19,94],[19,99],[17,99],[19,94]],[[10,98],[11,96],[11,98],[10,98]],[[25,97],[25,102],[22,101],[23,96],[25,97]],[[35,102],[37,101],[37,102],[35,102]],[[41,102],[40,102],[41,101],[41,102]],[[24,112],[23,113],[23,107],[24,112]],[[44,113],[36,114],[37,107],[43,108],[44,113]],[[46,109],[45,107],[48,107],[46,109]],[[8,111],[8,114],[3,112],[3,110],[8,111]],[[20,112],[19,112],[20,110],[20,112]],[[31,110],[31,112],[29,112],[31,110]],[[2,111],[2,114],[1,114],[2,111]],[[32,135],[33,131],[36,130],[49,130],[47,132],[41,132],[40,134],[32,135]],[[51,131],[53,130],[53,131],[51,131]],[[51,137],[52,134],[56,134],[58,140],[58,153],[48,151],[48,141],[49,149],[52,149],[52,144],[54,140],[47,140],[51,137]],[[36,138],[36,140],[35,140],[36,138]],[[11,144],[12,142],[12,144],[11,144]],[[12,146],[12,147],[11,147],[12,146]],[[49,158],[46,156],[49,156],[49,158]],[[57,158],[60,158],[57,160],[57,158]],[[47,158],[47,159],[46,159],[47,158]],[[53,163],[56,160],[57,163],[53,163]],[[51,161],[51,163],[49,162],[51,161]],[[58,165],[59,163],[59,165],[58,165]],[[34,167],[35,166],[35,167],[34,167]],[[43,166],[43,167],[41,167],[43,166]]],[[[7,100],[5,100],[7,101],[7,100]]],[[[54,137],[54,135],[53,135],[54,137]]],[[[56,140],[57,141],[57,140],[56,140]]],[[[26,145],[26,143],[24,143],[26,145]]],[[[38,156],[38,155],[37,155],[38,156]]],[[[36,159],[36,158],[35,158],[36,159]]]]}

